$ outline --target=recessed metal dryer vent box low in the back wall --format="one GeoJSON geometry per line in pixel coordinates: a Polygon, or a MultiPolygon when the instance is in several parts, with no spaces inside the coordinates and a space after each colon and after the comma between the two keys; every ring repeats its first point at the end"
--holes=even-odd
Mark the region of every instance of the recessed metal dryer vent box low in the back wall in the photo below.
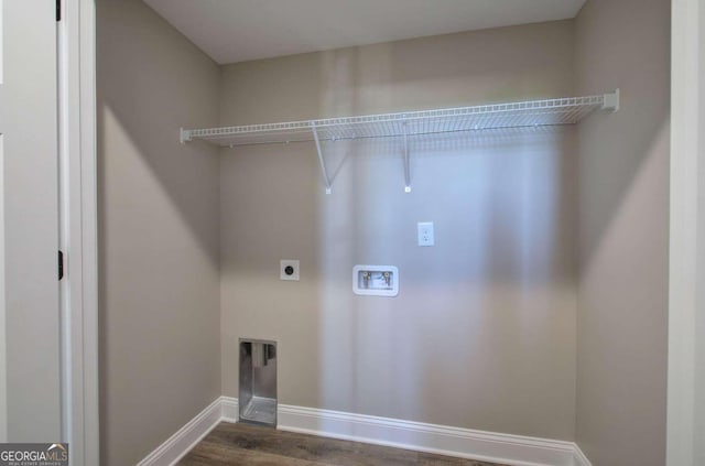
{"type": "Polygon", "coordinates": [[[276,426],[276,342],[240,338],[240,422],[276,426]]]}

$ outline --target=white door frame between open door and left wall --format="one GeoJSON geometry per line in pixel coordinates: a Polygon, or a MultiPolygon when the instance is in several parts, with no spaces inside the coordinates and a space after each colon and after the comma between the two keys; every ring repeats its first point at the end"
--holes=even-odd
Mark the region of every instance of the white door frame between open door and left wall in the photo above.
{"type": "Polygon", "coordinates": [[[100,464],[95,0],[64,0],[57,28],[62,431],[72,465],[100,464]]]}

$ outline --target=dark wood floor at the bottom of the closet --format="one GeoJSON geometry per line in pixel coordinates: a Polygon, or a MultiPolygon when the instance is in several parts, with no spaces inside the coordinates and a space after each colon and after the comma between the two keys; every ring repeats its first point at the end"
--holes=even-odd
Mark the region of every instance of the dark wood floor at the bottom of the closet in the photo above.
{"type": "Polygon", "coordinates": [[[214,429],[178,465],[501,466],[225,422],[214,429]]]}

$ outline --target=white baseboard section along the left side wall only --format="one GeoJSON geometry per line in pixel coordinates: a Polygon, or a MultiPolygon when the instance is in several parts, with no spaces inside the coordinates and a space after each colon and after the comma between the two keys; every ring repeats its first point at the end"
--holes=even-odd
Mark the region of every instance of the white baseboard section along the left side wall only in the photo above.
{"type": "Polygon", "coordinates": [[[196,446],[223,420],[223,399],[218,398],[198,413],[178,432],[169,437],[155,451],[150,453],[137,466],[174,465],[196,446]]]}

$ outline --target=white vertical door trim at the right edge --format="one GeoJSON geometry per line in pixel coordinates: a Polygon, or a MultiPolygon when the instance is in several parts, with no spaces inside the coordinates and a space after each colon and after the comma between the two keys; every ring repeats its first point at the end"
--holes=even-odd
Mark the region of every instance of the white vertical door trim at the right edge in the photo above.
{"type": "Polygon", "coordinates": [[[666,465],[696,466],[705,462],[705,395],[698,390],[698,383],[705,383],[705,350],[698,344],[705,325],[705,247],[698,243],[705,229],[705,8],[701,0],[673,0],[671,34],[666,465]]]}

